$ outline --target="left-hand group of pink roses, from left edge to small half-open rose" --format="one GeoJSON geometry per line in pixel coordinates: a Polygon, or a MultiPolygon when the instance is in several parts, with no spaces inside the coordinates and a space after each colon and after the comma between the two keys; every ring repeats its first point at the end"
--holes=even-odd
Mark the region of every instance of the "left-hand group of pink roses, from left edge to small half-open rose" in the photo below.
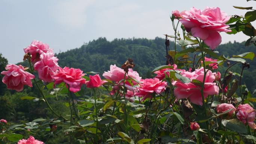
{"type": "MultiPolygon", "coordinates": [[[[87,84],[88,88],[97,88],[106,81],[102,81],[100,76],[90,76],[90,81],[86,82],[82,78],[85,74],[80,69],[61,68],[58,65],[58,58],[54,56],[53,49],[49,48],[49,45],[34,40],[30,46],[24,48],[24,52],[30,55],[34,70],[38,71],[39,79],[44,82],[54,82],[54,84],[60,84],[65,82],[71,92],[78,92],[83,84],[87,84]]],[[[28,73],[28,68],[24,68],[21,65],[8,64],[6,65],[7,71],[2,71],[3,83],[7,85],[8,89],[16,91],[22,91],[24,85],[32,87],[31,79],[35,76],[28,73]]]]}

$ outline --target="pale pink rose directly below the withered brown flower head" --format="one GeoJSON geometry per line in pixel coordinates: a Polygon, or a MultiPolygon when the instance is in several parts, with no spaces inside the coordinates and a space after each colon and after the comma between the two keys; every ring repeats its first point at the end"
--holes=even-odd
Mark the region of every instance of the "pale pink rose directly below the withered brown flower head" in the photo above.
{"type": "Polygon", "coordinates": [[[117,67],[116,65],[110,65],[110,71],[105,71],[103,73],[103,77],[106,79],[112,80],[120,85],[124,85],[124,82],[120,82],[125,78],[125,87],[130,91],[134,90],[134,85],[137,85],[141,80],[141,77],[137,73],[137,71],[133,71],[131,68],[128,69],[128,73],[125,76],[125,71],[122,68],[117,67]],[[131,83],[127,81],[127,79],[131,80],[131,83]],[[136,82],[136,81],[137,82],[136,82]]]}

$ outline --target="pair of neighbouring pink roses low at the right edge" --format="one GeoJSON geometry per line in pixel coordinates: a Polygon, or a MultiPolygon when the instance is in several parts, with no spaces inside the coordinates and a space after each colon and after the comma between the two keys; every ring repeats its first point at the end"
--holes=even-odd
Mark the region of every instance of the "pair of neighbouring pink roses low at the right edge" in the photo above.
{"type": "Polygon", "coordinates": [[[256,124],[254,123],[255,120],[255,110],[249,104],[240,104],[237,108],[234,107],[232,104],[219,104],[217,105],[217,113],[223,113],[227,110],[231,111],[228,112],[228,116],[231,117],[235,111],[237,111],[236,116],[244,124],[248,124],[250,128],[256,129],[256,124]]]}

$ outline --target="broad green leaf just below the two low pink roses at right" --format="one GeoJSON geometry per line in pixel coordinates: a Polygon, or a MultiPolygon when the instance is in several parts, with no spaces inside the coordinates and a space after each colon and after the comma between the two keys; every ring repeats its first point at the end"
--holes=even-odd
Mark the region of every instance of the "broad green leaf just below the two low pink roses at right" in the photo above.
{"type": "Polygon", "coordinates": [[[223,126],[225,126],[228,129],[231,129],[232,131],[247,134],[246,126],[238,119],[223,119],[221,123],[223,126]]]}

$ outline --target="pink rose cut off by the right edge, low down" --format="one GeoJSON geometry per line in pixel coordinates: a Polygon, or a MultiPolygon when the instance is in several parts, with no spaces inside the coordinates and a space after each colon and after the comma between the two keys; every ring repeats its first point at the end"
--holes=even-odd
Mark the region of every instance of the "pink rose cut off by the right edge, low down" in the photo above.
{"type": "Polygon", "coordinates": [[[254,123],[255,119],[255,110],[249,104],[240,104],[237,107],[237,119],[241,120],[244,124],[246,122],[252,129],[256,129],[254,123]]]}

